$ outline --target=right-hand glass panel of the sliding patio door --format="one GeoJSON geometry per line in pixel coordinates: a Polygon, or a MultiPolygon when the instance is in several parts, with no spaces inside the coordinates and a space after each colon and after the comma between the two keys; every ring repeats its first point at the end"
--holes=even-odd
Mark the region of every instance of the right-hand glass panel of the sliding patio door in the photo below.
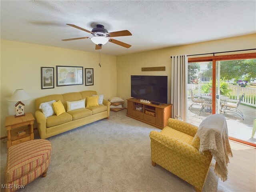
{"type": "Polygon", "coordinates": [[[256,59],[216,61],[216,113],[223,114],[229,136],[256,144],[256,59]]]}

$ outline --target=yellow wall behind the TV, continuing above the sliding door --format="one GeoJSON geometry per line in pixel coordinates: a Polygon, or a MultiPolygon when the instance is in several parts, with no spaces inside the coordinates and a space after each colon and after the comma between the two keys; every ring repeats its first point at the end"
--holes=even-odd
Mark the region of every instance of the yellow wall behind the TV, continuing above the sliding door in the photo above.
{"type": "MultiPolygon", "coordinates": [[[[226,38],[208,42],[188,44],[147,52],[117,56],[117,95],[124,100],[130,98],[130,76],[131,75],[161,75],[168,76],[168,103],[170,103],[170,80],[172,55],[203,54],[212,52],[223,52],[232,50],[244,50],[256,48],[256,34],[226,38]],[[165,66],[165,71],[142,72],[142,67],[165,66]]],[[[255,52],[247,51],[247,52],[255,52]]],[[[246,52],[232,52],[228,54],[240,54],[246,52]]],[[[220,54],[218,54],[220,55],[220,54]]],[[[212,55],[204,55],[212,56],[212,55]]],[[[126,102],[125,102],[126,106],[126,102]]]]}

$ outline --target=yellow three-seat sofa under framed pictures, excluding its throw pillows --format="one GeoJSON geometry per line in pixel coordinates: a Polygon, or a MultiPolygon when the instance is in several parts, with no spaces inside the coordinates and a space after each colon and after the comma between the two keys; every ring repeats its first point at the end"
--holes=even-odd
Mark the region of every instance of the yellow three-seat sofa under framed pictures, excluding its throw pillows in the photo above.
{"type": "Polygon", "coordinates": [[[53,115],[48,118],[46,118],[42,113],[42,110],[39,109],[41,103],[49,102],[51,100],[60,100],[64,105],[65,110],[67,111],[67,101],[78,101],[86,98],[86,96],[92,96],[96,94],[96,91],[82,91],[48,95],[36,99],[35,118],[38,124],[37,128],[40,138],[45,139],[103,118],[109,118],[111,103],[107,100],[103,100],[103,105],[76,109],[69,112],[64,112],[59,116],[53,115]]]}

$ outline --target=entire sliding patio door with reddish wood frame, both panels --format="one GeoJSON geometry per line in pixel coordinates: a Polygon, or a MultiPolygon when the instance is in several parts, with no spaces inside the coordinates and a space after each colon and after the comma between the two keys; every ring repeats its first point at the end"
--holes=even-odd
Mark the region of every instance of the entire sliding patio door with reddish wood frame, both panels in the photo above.
{"type": "Polygon", "coordinates": [[[222,114],[230,139],[256,146],[256,54],[188,59],[188,122],[222,114]]]}

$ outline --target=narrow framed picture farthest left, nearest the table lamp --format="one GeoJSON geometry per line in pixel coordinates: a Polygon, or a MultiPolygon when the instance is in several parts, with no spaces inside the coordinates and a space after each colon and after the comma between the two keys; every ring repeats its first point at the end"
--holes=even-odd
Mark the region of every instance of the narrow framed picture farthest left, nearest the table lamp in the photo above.
{"type": "Polygon", "coordinates": [[[54,88],[54,67],[41,67],[41,89],[54,88]]]}

